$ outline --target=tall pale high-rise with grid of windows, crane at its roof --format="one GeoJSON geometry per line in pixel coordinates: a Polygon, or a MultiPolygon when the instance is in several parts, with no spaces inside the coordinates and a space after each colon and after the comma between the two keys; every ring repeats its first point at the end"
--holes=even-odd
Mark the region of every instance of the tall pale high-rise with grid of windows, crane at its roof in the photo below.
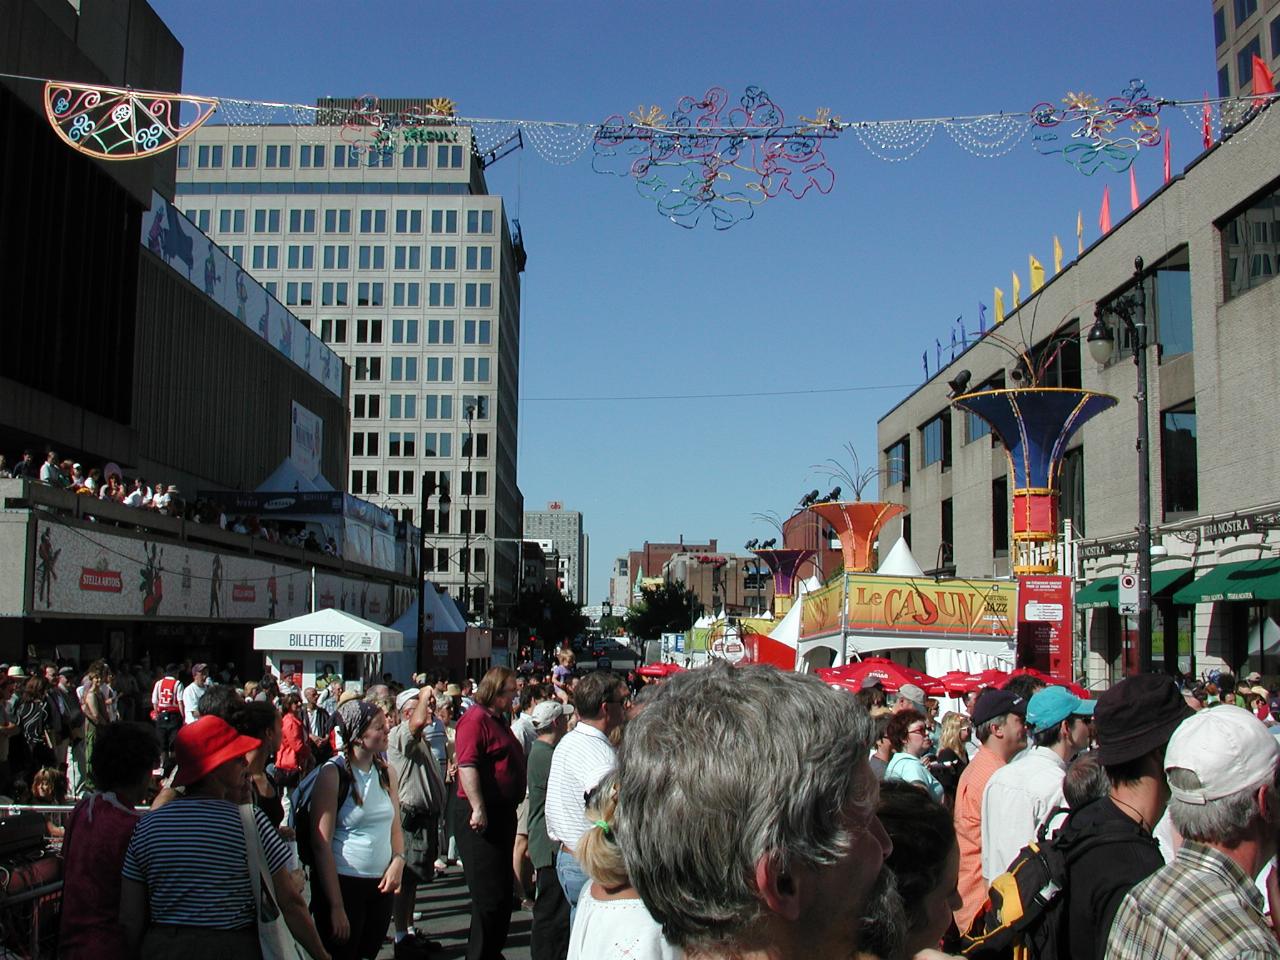
{"type": "MultiPolygon", "coordinates": [[[[379,109],[424,102],[440,101],[379,109]]],[[[178,204],[351,366],[348,490],[421,525],[424,572],[485,621],[518,580],[518,224],[470,128],[380,145],[365,104],[319,106],[314,124],[197,131],[178,204]]]]}

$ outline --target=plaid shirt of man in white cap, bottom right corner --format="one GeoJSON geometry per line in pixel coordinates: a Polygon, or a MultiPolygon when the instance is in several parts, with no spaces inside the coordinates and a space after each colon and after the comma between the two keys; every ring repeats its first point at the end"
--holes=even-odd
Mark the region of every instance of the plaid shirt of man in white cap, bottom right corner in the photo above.
{"type": "Polygon", "coordinates": [[[1280,957],[1265,910],[1258,888],[1234,860],[1189,840],[1172,863],[1124,899],[1107,960],[1280,957]]]}

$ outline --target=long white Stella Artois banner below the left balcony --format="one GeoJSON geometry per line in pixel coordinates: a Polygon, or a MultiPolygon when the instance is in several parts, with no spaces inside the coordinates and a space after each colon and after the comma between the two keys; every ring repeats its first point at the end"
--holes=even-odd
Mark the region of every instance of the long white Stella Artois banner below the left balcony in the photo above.
{"type": "MultiPolygon", "coordinates": [[[[32,614],[268,622],[311,608],[310,568],[44,520],[36,540],[32,614]]],[[[317,608],[375,623],[399,612],[390,584],[315,580],[317,608]]]]}

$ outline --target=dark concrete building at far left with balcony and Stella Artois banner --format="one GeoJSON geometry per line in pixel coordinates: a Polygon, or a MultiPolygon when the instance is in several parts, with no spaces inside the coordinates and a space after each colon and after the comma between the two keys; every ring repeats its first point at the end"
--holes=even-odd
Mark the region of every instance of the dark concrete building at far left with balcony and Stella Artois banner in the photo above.
{"type": "MultiPolygon", "coordinates": [[[[0,37],[6,74],[182,88],[182,46],[145,0],[13,0],[0,37]]],[[[306,612],[312,594],[393,620],[407,576],[223,530],[193,503],[252,489],[289,458],[300,407],[311,475],[340,483],[347,371],[294,337],[316,361],[300,364],[197,285],[207,239],[164,200],[177,151],[92,159],[50,128],[44,84],[19,79],[0,81],[0,453],[38,463],[52,451],[178,488],[161,512],[0,479],[0,659],[234,662],[253,676],[253,626],[306,612]]],[[[243,292],[294,333],[262,288],[243,292]]]]}

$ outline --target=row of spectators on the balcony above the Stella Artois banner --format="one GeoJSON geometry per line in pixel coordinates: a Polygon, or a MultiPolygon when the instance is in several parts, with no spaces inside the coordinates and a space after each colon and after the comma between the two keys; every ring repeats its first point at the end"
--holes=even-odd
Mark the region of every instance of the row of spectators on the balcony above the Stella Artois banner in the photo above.
{"type": "Polygon", "coordinates": [[[305,522],[262,520],[253,513],[228,515],[216,503],[207,499],[186,497],[177,484],[157,483],[150,485],[146,479],[134,476],[125,479],[118,471],[105,467],[90,467],[60,458],[56,451],[49,451],[44,462],[36,462],[29,449],[10,463],[0,454],[0,480],[26,479],[70,490],[100,500],[111,500],[124,507],[155,511],[166,517],[179,517],[195,524],[218,524],[223,530],[255,536],[268,543],[282,543],[288,547],[311,550],[314,553],[338,554],[338,543],[333,536],[319,532],[305,522]]]}

